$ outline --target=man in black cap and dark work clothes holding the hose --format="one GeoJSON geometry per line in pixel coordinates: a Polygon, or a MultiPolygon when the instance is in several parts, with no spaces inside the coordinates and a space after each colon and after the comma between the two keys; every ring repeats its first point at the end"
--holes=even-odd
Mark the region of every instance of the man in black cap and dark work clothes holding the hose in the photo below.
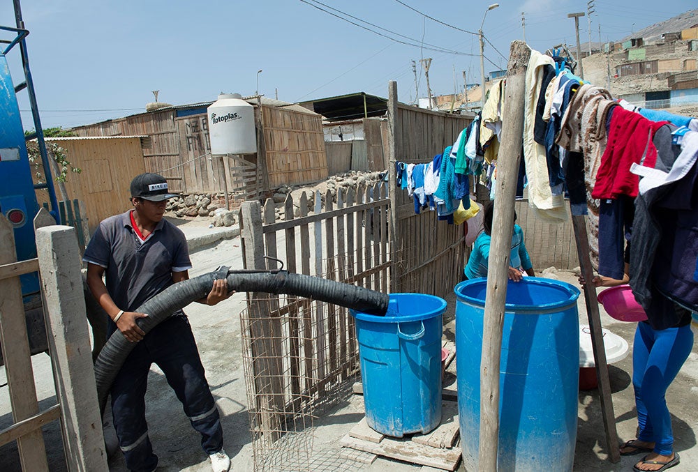
{"type": "MultiPolygon", "coordinates": [[[[166,201],[176,196],[168,193],[163,176],[135,176],[133,209],[101,222],[87,245],[83,257],[87,284],[110,316],[107,336],[118,329],[137,343],[110,391],[114,427],[128,469],[150,472],[158,465],[145,421],[148,372],[156,363],[192,427],[201,434],[211,468],[225,472],[230,458],[223,450],[223,428],[186,315],[178,310],[145,334],[136,320],[148,314],[133,312],[170,285],[189,278],[191,261],[184,234],[163,219],[166,201]]],[[[216,280],[209,294],[197,301],[216,305],[231,294],[225,280],[216,280]]]]}

